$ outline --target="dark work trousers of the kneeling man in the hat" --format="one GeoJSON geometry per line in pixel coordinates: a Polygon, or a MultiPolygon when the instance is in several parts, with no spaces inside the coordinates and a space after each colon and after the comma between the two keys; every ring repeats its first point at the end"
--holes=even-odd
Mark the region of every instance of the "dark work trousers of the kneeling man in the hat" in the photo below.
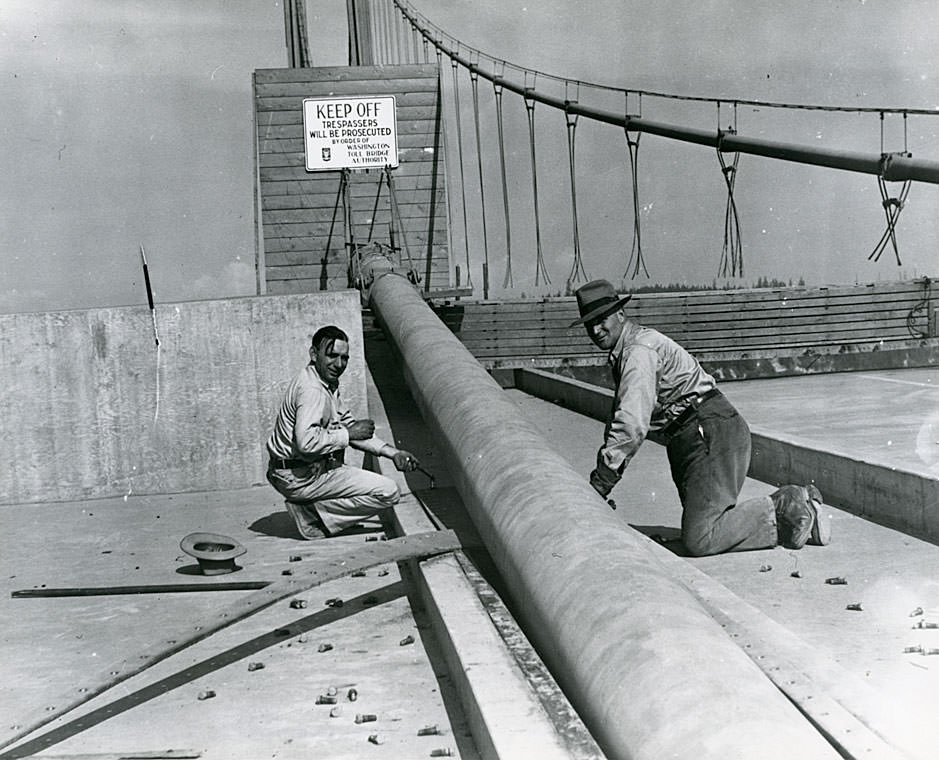
{"type": "Polygon", "coordinates": [[[776,545],[773,500],[737,501],[750,468],[750,428],[723,395],[704,401],[667,450],[681,499],[682,540],[693,556],[776,545]]]}

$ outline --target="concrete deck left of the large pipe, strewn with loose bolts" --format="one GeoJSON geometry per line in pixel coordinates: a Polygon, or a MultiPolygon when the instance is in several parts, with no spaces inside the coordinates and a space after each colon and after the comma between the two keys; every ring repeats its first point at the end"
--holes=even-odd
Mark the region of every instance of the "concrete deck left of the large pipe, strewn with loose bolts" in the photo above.
{"type": "MultiPolygon", "coordinates": [[[[0,511],[4,588],[0,641],[4,728],[54,704],[81,679],[250,592],[12,599],[10,591],[282,579],[314,559],[367,547],[358,534],[315,543],[295,537],[269,487],[60,503],[0,511]],[[40,514],[41,510],[41,514],[40,514]],[[241,570],[208,578],[179,549],[194,531],[248,548],[241,570]],[[291,557],[302,557],[300,563],[291,557]]],[[[410,584],[395,563],[298,594],[155,665],[40,729],[23,750],[60,753],[193,749],[204,758],[426,757],[435,748],[477,757],[410,584]],[[341,598],[341,608],[326,600],[341,598]],[[413,637],[413,643],[402,641],[413,637]],[[331,649],[320,651],[321,645],[331,649]],[[250,670],[249,664],[263,668],[250,670]],[[334,687],[341,715],[316,699],[334,687]],[[348,690],[358,699],[350,702],[348,690]],[[210,699],[199,695],[213,691],[210,699]],[[374,714],[357,724],[357,714],[374,714]],[[443,735],[418,736],[438,725],[443,735]],[[369,736],[378,734],[382,745],[369,736]]],[[[14,751],[6,756],[19,756],[14,751]]]]}

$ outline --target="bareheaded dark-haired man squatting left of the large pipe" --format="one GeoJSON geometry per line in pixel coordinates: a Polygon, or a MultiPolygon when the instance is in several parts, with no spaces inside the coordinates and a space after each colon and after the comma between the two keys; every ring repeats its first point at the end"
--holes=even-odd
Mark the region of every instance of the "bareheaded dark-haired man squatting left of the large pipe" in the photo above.
{"type": "Polygon", "coordinates": [[[389,457],[410,472],[420,466],[408,451],[375,436],[375,423],[357,420],[339,396],[349,363],[349,338],[335,325],[316,331],[310,363],[287,386],[267,441],[268,482],[286,499],[305,539],[351,528],[398,503],[398,486],[377,472],[344,464],[347,446],[389,457]]]}

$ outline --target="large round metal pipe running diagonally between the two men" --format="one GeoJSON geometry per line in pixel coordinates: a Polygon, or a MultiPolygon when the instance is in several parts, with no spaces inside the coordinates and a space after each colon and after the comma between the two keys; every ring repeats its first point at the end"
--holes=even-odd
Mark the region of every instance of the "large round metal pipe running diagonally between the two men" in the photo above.
{"type": "Polygon", "coordinates": [[[525,631],[611,760],[837,757],[417,290],[363,267],[525,631]]]}

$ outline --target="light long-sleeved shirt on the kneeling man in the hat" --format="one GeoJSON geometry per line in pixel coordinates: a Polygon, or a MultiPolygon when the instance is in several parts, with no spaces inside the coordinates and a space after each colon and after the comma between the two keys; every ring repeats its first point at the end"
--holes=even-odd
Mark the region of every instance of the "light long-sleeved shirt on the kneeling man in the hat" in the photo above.
{"type": "Polygon", "coordinates": [[[650,430],[661,430],[717,382],[671,338],[629,320],[609,361],[616,393],[597,461],[620,473],[650,430]]]}

